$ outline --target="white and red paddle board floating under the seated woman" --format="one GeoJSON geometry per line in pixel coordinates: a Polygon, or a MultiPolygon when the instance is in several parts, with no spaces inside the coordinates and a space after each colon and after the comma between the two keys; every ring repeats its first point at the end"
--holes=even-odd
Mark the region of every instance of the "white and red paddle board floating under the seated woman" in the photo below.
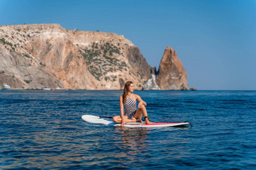
{"type": "MultiPolygon", "coordinates": [[[[113,126],[120,126],[121,124],[117,124],[112,121],[111,118],[100,118],[99,116],[95,115],[82,115],[82,119],[91,124],[105,124],[105,125],[113,125],[113,126]]],[[[145,124],[140,122],[132,122],[124,124],[124,127],[182,127],[185,125],[189,125],[188,122],[179,122],[179,123],[151,123],[145,124]]]]}

